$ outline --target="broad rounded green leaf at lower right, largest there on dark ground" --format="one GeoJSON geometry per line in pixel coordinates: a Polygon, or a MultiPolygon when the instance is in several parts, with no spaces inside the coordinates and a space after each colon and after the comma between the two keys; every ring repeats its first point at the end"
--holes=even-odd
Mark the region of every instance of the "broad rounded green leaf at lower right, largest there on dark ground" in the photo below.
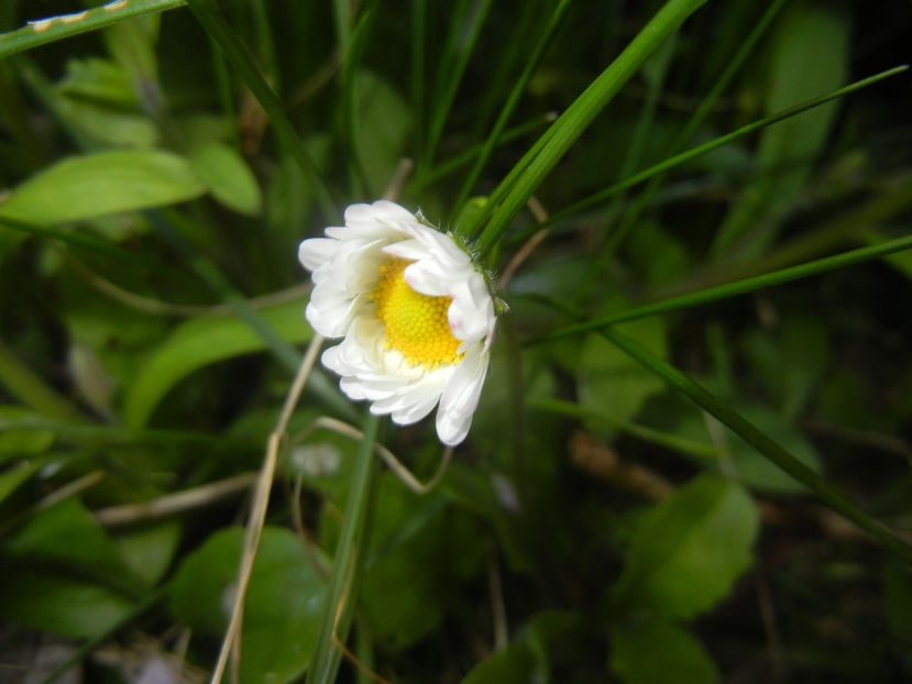
{"type": "Polygon", "coordinates": [[[750,565],[758,529],[741,487],[697,477],[642,518],[614,587],[618,605],[679,619],[712,608],[750,565]]]}

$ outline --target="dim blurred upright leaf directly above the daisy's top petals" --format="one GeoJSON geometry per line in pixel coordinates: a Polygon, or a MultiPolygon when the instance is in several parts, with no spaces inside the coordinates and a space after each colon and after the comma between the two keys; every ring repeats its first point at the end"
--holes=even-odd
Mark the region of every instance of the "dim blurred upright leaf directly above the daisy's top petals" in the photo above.
{"type": "Polygon", "coordinates": [[[389,84],[361,71],[354,85],[354,153],[371,197],[381,197],[396,170],[411,112],[389,84]]]}

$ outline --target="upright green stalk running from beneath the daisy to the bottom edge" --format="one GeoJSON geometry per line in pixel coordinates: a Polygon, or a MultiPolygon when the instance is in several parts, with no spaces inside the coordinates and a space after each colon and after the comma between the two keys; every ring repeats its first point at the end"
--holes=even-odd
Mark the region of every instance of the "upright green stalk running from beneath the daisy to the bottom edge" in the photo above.
{"type": "Polygon", "coordinates": [[[352,473],[345,516],[342,519],[339,543],[332,561],[323,619],[307,670],[306,684],[332,684],[339,672],[342,651],[334,643],[333,637],[342,643],[347,641],[358,603],[358,589],[367,555],[370,511],[376,488],[374,442],[378,427],[380,417],[369,413],[364,422],[364,438],[355,456],[358,461],[352,473]]]}

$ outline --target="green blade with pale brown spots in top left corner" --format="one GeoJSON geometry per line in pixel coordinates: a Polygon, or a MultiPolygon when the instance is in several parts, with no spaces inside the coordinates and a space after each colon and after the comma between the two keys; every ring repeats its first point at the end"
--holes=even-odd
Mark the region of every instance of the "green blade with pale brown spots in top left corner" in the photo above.
{"type": "Polygon", "coordinates": [[[32,21],[21,29],[0,34],[0,59],[39,45],[102,29],[125,19],[165,12],[185,4],[187,0],[130,0],[122,7],[118,7],[116,2],[108,2],[85,12],[32,21]]]}

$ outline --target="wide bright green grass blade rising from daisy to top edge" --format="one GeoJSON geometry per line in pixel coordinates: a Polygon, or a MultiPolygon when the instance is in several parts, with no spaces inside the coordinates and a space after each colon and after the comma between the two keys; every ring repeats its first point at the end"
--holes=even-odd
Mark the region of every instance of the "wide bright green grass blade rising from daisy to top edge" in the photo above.
{"type": "Polygon", "coordinates": [[[548,143],[523,167],[521,174],[510,187],[503,203],[494,210],[479,238],[477,250],[482,255],[487,254],[497,244],[514,217],[598,112],[671,32],[705,2],[706,0],[669,0],[666,2],[624,52],[554,122],[548,143]]]}

